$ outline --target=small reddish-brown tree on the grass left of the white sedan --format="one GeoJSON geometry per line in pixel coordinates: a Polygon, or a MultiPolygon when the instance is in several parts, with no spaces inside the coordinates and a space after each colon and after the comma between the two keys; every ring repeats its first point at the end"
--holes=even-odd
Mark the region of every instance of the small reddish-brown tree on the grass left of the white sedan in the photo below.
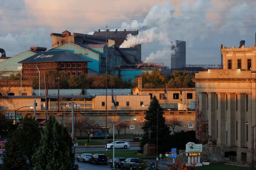
{"type": "Polygon", "coordinates": [[[82,118],[80,121],[83,122],[82,130],[87,137],[87,142],[89,143],[90,136],[99,131],[100,123],[96,123],[95,120],[92,120],[88,117],[82,118]]]}

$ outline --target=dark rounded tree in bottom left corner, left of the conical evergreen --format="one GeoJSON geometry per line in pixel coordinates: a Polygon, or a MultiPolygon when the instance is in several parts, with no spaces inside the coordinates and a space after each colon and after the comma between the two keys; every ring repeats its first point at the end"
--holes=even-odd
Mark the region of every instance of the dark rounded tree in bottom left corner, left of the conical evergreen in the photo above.
{"type": "Polygon", "coordinates": [[[32,156],[39,148],[41,128],[36,120],[25,117],[6,144],[4,169],[33,169],[32,156]]]}

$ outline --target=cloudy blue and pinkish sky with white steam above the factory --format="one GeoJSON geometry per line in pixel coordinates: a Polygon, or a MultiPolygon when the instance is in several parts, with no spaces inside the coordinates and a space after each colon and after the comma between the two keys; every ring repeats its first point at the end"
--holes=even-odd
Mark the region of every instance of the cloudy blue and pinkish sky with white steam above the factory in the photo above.
{"type": "Polygon", "coordinates": [[[186,64],[220,64],[220,46],[255,44],[256,0],[0,0],[0,48],[7,56],[51,49],[50,33],[139,30],[142,61],[171,65],[171,41],[186,41],[186,64]]]}

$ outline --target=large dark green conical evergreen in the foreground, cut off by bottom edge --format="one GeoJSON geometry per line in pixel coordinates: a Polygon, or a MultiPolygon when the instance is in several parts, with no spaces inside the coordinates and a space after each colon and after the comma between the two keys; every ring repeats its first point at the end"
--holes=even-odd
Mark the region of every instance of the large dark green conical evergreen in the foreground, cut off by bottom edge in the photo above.
{"type": "Polygon", "coordinates": [[[37,170],[78,170],[74,164],[72,139],[63,124],[51,116],[41,137],[38,151],[33,155],[37,170]]]}

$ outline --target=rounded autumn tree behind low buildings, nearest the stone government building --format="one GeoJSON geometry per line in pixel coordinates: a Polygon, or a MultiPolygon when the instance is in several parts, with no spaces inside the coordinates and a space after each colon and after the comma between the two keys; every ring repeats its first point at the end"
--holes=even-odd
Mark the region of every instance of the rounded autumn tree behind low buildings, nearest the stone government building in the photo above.
{"type": "Polygon", "coordinates": [[[168,76],[168,88],[184,88],[195,87],[195,83],[192,81],[193,77],[185,71],[172,72],[168,76]]]}

